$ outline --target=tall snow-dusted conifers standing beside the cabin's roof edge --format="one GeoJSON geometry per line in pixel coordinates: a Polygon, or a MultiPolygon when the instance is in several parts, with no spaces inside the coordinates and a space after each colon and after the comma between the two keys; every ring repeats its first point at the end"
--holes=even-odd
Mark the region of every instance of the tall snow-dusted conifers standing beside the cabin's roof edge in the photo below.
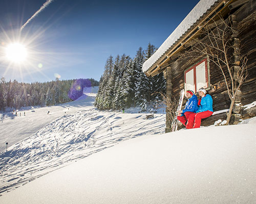
{"type": "Polygon", "coordinates": [[[100,78],[95,107],[99,110],[120,110],[139,106],[146,111],[148,104],[158,103],[161,95],[154,93],[165,93],[166,90],[163,73],[147,78],[142,71],[143,63],[155,51],[155,46],[148,43],[146,50],[139,47],[133,59],[125,54],[117,55],[115,59],[110,56],[100,78]]]}

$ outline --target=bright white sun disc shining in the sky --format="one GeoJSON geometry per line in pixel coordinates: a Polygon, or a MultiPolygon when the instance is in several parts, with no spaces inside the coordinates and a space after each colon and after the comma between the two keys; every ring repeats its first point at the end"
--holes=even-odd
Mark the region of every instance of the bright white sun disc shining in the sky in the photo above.
{"type": "Polygon", "coordinates": [[[6,57],[14,63],[20,63],[26,60],[27,49],[23,44],[13,43],[6,48],[6,57]]]}

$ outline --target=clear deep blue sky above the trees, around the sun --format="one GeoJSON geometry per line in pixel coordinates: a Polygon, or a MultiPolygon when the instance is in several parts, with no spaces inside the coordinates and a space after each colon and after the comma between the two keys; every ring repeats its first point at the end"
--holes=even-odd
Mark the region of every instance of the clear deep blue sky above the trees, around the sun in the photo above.
{"type": "Polygon", "coordinates": [[[99,80],[110,55],[133,58],[149,42],[159,47],[199,0],[55,0],[20,32],[45,2],[1,1],[0,77],[6,81],[99,80]],[[6,60],[12,42],[26,46],[25,62],[6,60]]]}

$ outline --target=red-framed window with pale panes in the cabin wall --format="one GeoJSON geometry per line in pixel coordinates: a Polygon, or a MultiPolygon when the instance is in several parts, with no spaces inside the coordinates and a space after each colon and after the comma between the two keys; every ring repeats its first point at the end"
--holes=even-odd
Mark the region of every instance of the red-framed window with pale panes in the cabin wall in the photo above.
{"type": "Polygon", "coordinates": [[[209,87],[208,63],[203,59],[185,70],[185,89],[197,92],[200,88],[209,87]]]}

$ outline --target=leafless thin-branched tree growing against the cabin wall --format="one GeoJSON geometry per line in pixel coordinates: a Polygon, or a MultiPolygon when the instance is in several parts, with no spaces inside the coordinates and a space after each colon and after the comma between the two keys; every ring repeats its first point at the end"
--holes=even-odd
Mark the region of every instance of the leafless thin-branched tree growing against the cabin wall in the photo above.
{"type": "MultiPolygon", "coordinates": [[[[188,54],[189,57],[207,56],[220,68],[231,100],[227,124],[230,121],[236,96],[248,75],[247,58],[240,55],[236,24],[234,16],[226,20],[219,16],[218,20],[212,20],[202,29],[200,33],[202,39],[196,38],[190,41],[191,51],[188,54]]],[[[184,55],[187,56],[187,53],[184,55]]]]}

